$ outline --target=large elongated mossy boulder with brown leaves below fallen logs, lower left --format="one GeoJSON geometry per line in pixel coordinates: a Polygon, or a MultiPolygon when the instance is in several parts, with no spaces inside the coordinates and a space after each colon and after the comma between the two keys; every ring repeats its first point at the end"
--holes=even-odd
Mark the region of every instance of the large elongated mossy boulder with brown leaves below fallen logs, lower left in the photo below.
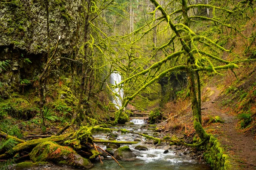
{"type": "Polygon", "coordinates": [[[60,146],[52,141],[38,144],[29,153],[29,156],[34,162],[52,161],[57,164],[66,164],[81,169],[89,169],[93,166],[90,160],[81,157],[72,148],[60,146]]]}

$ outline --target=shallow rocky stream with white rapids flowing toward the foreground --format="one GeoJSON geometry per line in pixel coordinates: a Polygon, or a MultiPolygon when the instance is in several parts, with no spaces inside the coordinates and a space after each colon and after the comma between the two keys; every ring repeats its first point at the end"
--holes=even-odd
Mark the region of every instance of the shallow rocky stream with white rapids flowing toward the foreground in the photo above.
{"type": "MultiPolygon", "coordinates": [[[[118,129],[127,129],[137,133],[148,133],[148,135],[153,135],[153,131],[144,129],[145,121],[143,119],[133,119],[131,120],[134,124],[119,125],[118,129]]],[[[156,147],[153,144],[147,144],[146,139],[137,134],[127,133],[122,134],[117,133],[117,141],[134,141],[135,138],[139,138],[141,142],[138,144],[128,145],[130,149],[137,155],[134,161],[119,161],[119,163],[126,170],[210,170],[211,168],[206,164],[199,164],[197,160],[191,159],[188,155],[175,154],[175,150],[170,150],[164,154],[163,152],[169,146],[159,146],[156,147]],[[135,150],[134,147],[137,145],[143,145],[148,148],[146,151],[135,150]]],[[[107,138],[106,133],[95,133],[93,134],[95,138],[105,139],[107,138]]],[[[103,149],[106,146],[99,145],[103,149]]],[[[124,145],[121,145],[124,146],[124,145]]],[[[114,170],[123,168],[120,167],[111,158],[105,158],[103,160],[104,164],[95,163],[95,166],[91,170],[114,170]]]]}

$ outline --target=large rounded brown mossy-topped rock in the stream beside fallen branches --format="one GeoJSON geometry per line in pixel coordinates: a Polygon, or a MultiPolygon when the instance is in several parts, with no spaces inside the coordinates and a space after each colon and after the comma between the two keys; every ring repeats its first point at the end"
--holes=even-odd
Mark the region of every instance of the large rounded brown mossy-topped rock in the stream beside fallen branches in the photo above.
{"type": "Polygon", "coordinates": [[[119,147],[114,152],[114,158],[116,159],[122,159],[122,160],[129,160],[131,158],[135,158],[136,155],[131,151],[131,149],[128,146],[119,147]]]}

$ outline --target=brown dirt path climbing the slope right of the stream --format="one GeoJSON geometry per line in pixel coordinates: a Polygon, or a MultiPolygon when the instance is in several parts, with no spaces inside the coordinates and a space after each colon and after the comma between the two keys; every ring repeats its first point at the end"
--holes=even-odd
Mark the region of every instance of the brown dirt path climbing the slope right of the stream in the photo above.
{"type": "Polygon", "coordinates": [[[209,101],[202,104],[202,114],[220,116],[225,121],[219,127],[222,135],[218,136],[222,146],[226,149],[228,155],[234,159],[238,170],[256,170],[256,141],[253,137],[246,136],[236,129],[238,119],[236,116],[228,115],[221,111],[216,104],[219,90],[216,87],[210,87],[215,93],[209,97],[209,101]]]}

